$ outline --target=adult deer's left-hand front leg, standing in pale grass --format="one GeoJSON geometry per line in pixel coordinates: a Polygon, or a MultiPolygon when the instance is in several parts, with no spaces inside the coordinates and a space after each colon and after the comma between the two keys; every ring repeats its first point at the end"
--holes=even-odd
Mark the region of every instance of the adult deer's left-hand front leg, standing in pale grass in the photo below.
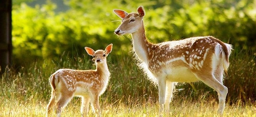
{"type": "Polygon", "coordinates": [[[165,104],[165,91],[166,91],[166,80],[164,77],[160,77],[158,79],[158,91],[159,91],[159,114],[162,115],[164,111],[164,104],[165,104]]]}

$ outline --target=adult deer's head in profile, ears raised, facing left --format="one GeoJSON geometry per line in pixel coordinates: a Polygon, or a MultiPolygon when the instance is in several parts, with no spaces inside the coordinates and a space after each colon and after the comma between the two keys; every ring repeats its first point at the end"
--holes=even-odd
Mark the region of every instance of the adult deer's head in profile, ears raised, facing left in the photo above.
{"type": "Polygon", "coordinates": [[[145,11],[143,6],[139,6],[138,13],[128,14],[126,11],[114,9],[114,13],[122,19],[121,25],[115,30],[117,35],[130,34],[137,32],[143,25],[143,17],[145,16],[145,11]]]}

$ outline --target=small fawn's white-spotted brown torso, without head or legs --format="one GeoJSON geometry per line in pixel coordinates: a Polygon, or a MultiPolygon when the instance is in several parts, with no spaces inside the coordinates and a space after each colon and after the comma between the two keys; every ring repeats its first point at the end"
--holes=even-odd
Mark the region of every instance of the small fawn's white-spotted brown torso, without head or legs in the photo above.
{"type": "Polygon", "coordinates": [[[107,86],[110,72],[106,74],[96,70],[59,69],[50,77],[53,89],[65,89],[74,95],[89,95],[90,91],[102,94],[107,86]],[[57,86],[55,86],[57,84],[57,86]]]}

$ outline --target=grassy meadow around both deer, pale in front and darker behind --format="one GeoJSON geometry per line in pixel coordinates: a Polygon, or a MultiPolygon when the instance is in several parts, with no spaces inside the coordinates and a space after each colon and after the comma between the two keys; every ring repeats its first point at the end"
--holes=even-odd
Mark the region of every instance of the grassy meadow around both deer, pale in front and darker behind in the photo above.
{"type": "MultiPolygon", "coordinates": [[[[224,117],[255,117],[256,114],[256,53],[234,51],[224,84],[229,88],[224,117]]],[[[45,116],[50,98],[49,76],[59,68],[95,69],[91,57],[83,54],[69,58],[65,54],[59,61],[32,62],[19,69],[9,68],[1,76],[0,116],[45,116]]],[[[155,117],[158,116],[158,89],[147,80],[135,65],[132,55],[108,57],[111,79],[100,97],[103,117],[155,117]]],[[[80,99],[73,98],[63,110],[64,117],[80,115],[80,99]]],[[[174,117],[219,117],[218,95],[201,82],[178,83],[170,104],[174,117]]],[[[55,116],[53,114],[53,116],[55,116]]],[[[94,116],[90,110],[89,116],[94,116]]]]}

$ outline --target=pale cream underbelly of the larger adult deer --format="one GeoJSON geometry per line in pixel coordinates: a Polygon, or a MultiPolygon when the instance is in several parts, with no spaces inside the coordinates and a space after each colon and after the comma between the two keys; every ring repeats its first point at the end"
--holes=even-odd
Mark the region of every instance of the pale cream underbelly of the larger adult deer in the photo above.
{"type": "Polygon", "coordinates": [[[198,79],[187,67],[165,69],[166,80],[170,82],[196,82],[198,79]]]}

